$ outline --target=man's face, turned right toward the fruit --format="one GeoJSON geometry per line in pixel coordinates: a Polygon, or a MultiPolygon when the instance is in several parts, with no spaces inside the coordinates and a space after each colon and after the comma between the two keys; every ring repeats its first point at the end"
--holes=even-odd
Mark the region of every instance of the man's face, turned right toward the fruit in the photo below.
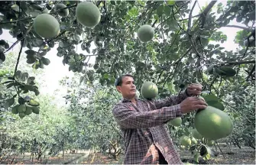
{"type": "Polygon", "coordinates": [[[117,86],[117,89],[125,98],[133,98],[136,95],[136,86],[131,76],[123,77],[122,86],[117,86]]]}

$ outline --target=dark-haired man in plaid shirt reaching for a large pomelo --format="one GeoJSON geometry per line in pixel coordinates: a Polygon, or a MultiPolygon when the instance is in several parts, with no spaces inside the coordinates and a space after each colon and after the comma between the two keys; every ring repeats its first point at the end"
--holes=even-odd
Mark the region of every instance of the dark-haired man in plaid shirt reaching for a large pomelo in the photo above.
{"type": "Polygon", "coordinates": [[[161,100],[141,100],[135,97],[133,76],[126,74],[115,82],[123,96],[112,112],[125,138],[125,164],[180,164],[179,154],[173,146],[166,124],[170,119],[206,108],[199,95],[202,86],[191,84],[180,95],[161,100]]]}

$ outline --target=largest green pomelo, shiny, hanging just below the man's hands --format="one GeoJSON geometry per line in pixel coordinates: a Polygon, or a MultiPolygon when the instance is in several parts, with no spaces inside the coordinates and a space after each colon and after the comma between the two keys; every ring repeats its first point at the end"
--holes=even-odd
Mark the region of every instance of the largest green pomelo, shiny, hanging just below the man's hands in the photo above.
{"type": "Polygon", "coordinates": [[[209,140],[217,140],[232,133],[233,122],[225,112],[208,106],[196,113],[195,127],[203,137],[209,140]]]}

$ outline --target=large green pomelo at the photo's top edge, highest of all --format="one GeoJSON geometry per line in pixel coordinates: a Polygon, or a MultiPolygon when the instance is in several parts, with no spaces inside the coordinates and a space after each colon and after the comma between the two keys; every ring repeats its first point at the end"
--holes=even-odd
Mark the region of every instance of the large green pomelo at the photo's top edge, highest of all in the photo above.
{"type": "Polygon", "coordinates": [[[80,2],[76,6],[76,18],[85,27],[95,27],[99,24],[101,13],[92,2],[80,2]]]}

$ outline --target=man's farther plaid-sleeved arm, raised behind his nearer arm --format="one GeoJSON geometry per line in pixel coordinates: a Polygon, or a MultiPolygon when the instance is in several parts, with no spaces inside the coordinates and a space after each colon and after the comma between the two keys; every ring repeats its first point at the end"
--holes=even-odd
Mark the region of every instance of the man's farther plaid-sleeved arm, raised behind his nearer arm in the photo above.
{"type": "Polygon", "coordinates": [[[180,95],[172,95],[167,99],[159,99],[154,101],[154,105],[157,108],[167,107],[171,105],[180,104],[184,99],[189,97],[190,95],[187,94],[186,90],[184,92],[180,92],[180,95]]]}

